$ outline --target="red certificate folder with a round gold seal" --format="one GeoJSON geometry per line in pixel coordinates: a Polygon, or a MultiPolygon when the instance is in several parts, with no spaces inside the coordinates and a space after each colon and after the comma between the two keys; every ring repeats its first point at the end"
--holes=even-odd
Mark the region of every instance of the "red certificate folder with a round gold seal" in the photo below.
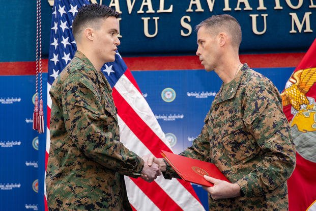
{"type": "Polygon", "coordinates": [[[213,183],[207,181],[203,177],[204,175],[207,175],[216,179],[231,182],[212,163],[191,159],[190,157],[181,156],[164,150],[161,151],[161,155],[185,181],[213,187],[213,183]]]}

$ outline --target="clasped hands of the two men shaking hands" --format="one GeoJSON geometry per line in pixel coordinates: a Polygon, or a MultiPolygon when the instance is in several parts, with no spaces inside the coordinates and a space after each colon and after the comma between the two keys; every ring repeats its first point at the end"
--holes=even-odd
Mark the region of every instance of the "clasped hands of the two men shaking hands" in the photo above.
{"type": "Polygon", "coordinates": [[[157,159],[152,154],[141,157],[144,160],[144,165],[141,171],[141,178],[152,182],[157,176],[161,175],[162,171],[166,171],[166,164],[163,159],[157,159]]]}

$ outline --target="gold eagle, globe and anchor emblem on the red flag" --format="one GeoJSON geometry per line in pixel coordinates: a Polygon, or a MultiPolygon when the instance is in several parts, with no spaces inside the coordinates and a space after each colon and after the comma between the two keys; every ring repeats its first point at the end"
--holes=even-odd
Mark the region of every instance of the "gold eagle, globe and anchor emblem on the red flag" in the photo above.
{"type": "MultiPolygon", "coordinates": [[[[316,103],[306,93],[316,82],[316,68],[294,72],[281,93],[283,107],[291,104],[290,122],[297,152],[304,159],[316,163],[316,103]],[[299,138],[298,138],[299,137],[299,138]]],[[[315,87],[313,87],[314,89],[315,87]]]]}

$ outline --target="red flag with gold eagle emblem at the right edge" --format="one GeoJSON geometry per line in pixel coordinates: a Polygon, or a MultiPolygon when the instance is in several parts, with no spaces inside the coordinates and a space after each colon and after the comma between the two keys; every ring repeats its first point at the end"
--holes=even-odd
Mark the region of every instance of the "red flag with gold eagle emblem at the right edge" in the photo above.
{"type": "Polygon", "coordinates": [[[296,168],[288,180],[289,210],[315,210],[316,39],[281,93],[283,111],[296,145],[296,168]]]}

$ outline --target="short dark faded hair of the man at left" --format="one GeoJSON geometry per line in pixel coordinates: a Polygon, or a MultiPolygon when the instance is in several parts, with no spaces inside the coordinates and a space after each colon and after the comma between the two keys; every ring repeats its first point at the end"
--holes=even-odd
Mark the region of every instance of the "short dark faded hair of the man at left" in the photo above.
{"type": "Polygon", "coordinates": [[[72,23],[72,33],[76,38],[84,27],[94,27],[99,28],[99,22],[101,19],[106,19],[107,17],[120,17],[120,13],[113,10],[112,8],[99,5],[99,4],[89,4],[84,5],[79,8],[78,13],[72,23]]]}

